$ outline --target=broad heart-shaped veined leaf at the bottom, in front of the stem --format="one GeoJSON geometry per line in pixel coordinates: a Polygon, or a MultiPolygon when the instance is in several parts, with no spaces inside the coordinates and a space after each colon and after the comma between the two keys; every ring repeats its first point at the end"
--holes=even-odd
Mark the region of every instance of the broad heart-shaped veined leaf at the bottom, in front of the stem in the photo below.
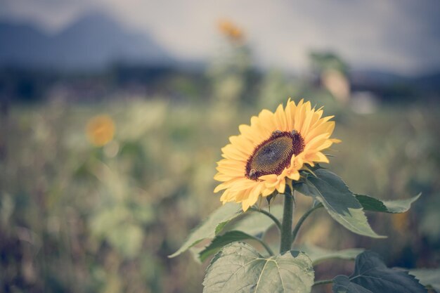
{"type": "Polygon", "coordinates": [[[234,242],[211,261],[204,293],[309,293],[314,273],[302,252],[285,252],[268,259],[252,246],[234,242]]]}

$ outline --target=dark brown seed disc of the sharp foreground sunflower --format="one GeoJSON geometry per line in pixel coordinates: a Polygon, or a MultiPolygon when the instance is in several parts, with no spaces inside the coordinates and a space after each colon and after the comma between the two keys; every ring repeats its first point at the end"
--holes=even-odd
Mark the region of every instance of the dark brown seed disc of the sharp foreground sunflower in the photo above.
{"type": "Polygon", "coordinates": [[[304,150],[304,140],[297,131],[273,131],[247,159],[246,177],[257,181],[259,176],[281,174],[290,166],[292,155],[304,150]]]}

